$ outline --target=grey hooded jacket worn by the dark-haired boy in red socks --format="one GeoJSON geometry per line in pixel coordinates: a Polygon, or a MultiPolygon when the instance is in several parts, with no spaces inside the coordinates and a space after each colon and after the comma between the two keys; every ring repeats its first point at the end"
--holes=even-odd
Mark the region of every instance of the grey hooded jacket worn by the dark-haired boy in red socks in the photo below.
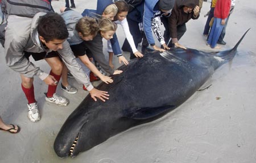
{"type": "MultiPolygon", "coordinates": [[[[27,60],[24,57],[24,51],[34,53],[49,52],[40,44],[39,35],[36,30],[38,19],[44,14],[46,13],[38,12],[33,18],[9,15],[5,33],[6,64],[23,76],[28,78],[38,76],[41,80],[46,79],[49,74],[43,72],[43,70],[27,60]]],[[[64,41],[63,48],[57,52],[59,52],[61,59],[76,81],[84,84],[88,91],[92,90],[93,85],[90,83],[89,77],[82,70],[81,65],[77,63],[67,40],[64,41]]]]}

